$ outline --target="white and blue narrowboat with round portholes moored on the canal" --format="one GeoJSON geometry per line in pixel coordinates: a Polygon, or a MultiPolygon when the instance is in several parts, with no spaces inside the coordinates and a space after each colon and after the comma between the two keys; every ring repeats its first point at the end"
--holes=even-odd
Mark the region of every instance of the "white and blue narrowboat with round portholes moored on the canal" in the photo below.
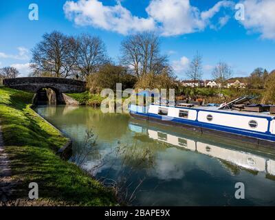
{"type": "Polygon", "coordinates": [[[275,117],[270,111],[245,111],[238,107],[251,100],[241,97],[217,106],[155,102],[148,106],[131,104],[133,118],[149,120],[191,131],[219,135],[261,146],[275,147],[275,117]]]}

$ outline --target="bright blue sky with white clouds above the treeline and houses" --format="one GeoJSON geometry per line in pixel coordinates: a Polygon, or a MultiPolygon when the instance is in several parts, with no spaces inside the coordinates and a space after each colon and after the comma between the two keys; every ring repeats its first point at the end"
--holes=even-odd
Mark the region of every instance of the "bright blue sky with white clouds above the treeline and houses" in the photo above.
{"type": "Polygon", "coordinates": [[[125,36],[154,30],[179,78],[186,78],[197,51],[203,78],[211,78],[218,61],[227,62],[234,76],[275,69],[274,0],[1,0],[0,30],[0,67],[17,67],[21,76],[30,71],[30,50],[53,30],[100,36],[115,61],[125,36]],[[38,21],[28,18],[30,3],[39,6],[38,21]],[[236,3],[244,6],[243,21],[234,18],[236,3]]]}

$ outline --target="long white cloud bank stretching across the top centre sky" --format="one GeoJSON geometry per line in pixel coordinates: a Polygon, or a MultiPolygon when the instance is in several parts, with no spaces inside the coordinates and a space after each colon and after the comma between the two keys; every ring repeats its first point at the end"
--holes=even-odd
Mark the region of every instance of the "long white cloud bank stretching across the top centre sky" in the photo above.
{"type": "Polygon", "coordinates": [[[146,8],[148,16],[140,18],[131,14],[120,1],[107,6],[99,0],[78,0],[66,1],[63,10],[67,19],[76,25],[91,25],[120,34],[157,30],[164,36],[174,36],[204,30],[221,8],[228,7],[232,7],[232,1],[219,1],[209,10],[200,12],[190,5],[190,0],[151,0],[146,8]]]}

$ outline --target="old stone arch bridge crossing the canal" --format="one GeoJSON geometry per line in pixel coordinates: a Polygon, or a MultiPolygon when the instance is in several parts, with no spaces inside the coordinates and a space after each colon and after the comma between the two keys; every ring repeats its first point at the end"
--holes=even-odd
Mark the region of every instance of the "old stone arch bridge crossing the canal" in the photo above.
{"type": "MultiPolygon", "coordinates": [[[[56,104],[66,104],[67,94],[80,93],[86,90],[86,83],[80,80],[54,77],[23,77],[4,79],[3,85],[12,89],[19,89],[35,93],[34,104],[39,102],[45,89],[52,89],[56,95],[56,104]]],[[[47,94],[48,96],[48,94],[47,94]]]]}

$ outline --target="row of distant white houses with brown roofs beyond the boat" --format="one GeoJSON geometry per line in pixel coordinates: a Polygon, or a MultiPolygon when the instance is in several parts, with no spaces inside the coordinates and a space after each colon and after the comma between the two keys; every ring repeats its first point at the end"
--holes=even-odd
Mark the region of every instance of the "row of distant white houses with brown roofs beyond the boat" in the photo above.
{"type": "MultiPolygon", "coordinates": [[[[217,83],[215,80],[182,80],[182,85],[184,87],[210,87],[210,88],[219,88],[221,87],[220,83],[217,83]]],[[[226,88],[242,88],[246,87],[247,83],[244,80],[230,79],[226,82],[223,87],[226,88]]]]}

